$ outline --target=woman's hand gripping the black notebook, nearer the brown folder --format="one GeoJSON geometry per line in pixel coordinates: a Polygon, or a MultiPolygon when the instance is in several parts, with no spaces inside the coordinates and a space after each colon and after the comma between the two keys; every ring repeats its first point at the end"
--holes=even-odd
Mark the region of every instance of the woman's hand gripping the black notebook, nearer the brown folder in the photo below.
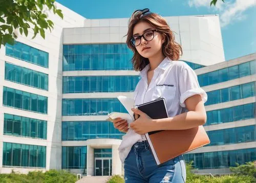
{"type": "Polygon", "coordinates": [[[153,127],[153,120],[146,113],[142,112],[137,108],[132,108],[132,111],[135,114],[138,114],[140,117],[130,123],[130,128],[133,129],[138,134],[145,134],[149,131],[154,131],[153,127]]]}

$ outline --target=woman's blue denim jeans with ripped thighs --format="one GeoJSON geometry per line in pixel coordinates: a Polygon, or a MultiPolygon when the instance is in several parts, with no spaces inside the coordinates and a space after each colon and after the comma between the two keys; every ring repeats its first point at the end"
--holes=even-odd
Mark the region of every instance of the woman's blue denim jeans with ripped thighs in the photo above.
{"type": "Polygon", "coordinates": [[[183,156],[157,166],[148,142],[137,142],[125,158],[124,180],[125,183],[185,182],[186,168],[183,156]]]}

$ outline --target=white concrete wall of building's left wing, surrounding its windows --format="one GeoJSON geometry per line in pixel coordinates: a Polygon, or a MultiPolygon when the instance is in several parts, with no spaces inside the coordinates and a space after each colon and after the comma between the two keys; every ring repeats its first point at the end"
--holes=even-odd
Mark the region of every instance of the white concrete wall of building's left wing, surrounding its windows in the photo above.
{"type": "Polygon", "coordinates": [[[20,173],[28,173],[29,171],[37,170],[34,168],[3,167],[3,142],[46,146],[46,168],[39,170],[61,169],[62,31],[63,28],[67,27],[82,27],[86,18],[61,4],[56,3],[56,6],[62,10],[64,18],[61,19],[57,15],[54,15],[53,12],[46,12],[49,19],[54,22],[54,29],[52,32],[49,30],[46,31],[45,39],[41,38],[39,34],[36,38],[31,39],[33,36],[32,30],[29,30],[28,37],[19,35],[16,39],[30,47],[49,53],[49,68],[6,56],[5,47],[2,46],[0,49],[0,173],[10,173],[12,170],[20,173]],[[6,61],[48,74],[49,90],[41,90],[5,80],[6,61]],[[48,97],[48,114],[43,115],[3,106],[3,86],[48,97]],[[3,135],[4,113],[47,121],[47,140],[3,135]]]}

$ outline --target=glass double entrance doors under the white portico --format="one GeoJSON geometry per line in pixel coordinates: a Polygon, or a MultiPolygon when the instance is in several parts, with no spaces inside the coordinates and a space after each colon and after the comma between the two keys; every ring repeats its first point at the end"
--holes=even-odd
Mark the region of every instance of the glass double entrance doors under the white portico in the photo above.
{"type": "Polygon", "coordinates": [[[95,158],[94,175],[110,176],[112,171],[112,159],[108,157],[95,158]]]}

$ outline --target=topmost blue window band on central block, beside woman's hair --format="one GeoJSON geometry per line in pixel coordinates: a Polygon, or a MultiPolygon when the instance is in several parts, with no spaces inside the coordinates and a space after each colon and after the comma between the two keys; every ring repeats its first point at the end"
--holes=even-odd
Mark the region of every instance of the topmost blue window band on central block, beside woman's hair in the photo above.
{"type": "Polygon", "coordinates": [[[63,45],[63,55],[63,71],[133,70],[126,44],[63,45]]]}

